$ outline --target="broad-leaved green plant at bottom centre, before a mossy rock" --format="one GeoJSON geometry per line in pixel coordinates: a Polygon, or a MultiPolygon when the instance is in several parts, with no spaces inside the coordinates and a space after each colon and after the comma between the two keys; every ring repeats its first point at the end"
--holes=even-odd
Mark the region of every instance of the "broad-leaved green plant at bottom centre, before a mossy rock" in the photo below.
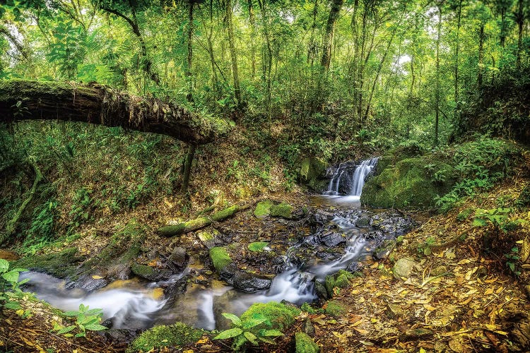
{"type": "Polygon", "coordinates": [[[276,342],[271,337],[283,335],[281,331],[271,329],[271,321],[261,313],[253,313],[252,316],[246,316],[243,320],[232,313],[223,313],[223,316],[232,321],[234,327],[222,331],[213,337],[213,340],[233,338],[232,349],[235,352],[239,352],[247,342],[252,343],[252,345],[259,345],[258,341],[262,341],[274,345],[276,342]],[[263,325],[269,326],[269,328],[257,328],[263,325]]]}

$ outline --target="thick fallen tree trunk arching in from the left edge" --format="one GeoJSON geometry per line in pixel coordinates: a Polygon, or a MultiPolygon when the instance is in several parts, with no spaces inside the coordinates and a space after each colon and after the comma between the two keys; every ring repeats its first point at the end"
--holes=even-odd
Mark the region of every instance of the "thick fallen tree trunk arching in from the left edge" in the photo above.
{"type": "Polygon", "coordinates": [[[0,81],[0,122],[41,119],[122,126],[196,145],[209,143],[220,135],[215,128],[202,126],[198,115],[176,104],[136,97],[98,84],[0,81]]]}

